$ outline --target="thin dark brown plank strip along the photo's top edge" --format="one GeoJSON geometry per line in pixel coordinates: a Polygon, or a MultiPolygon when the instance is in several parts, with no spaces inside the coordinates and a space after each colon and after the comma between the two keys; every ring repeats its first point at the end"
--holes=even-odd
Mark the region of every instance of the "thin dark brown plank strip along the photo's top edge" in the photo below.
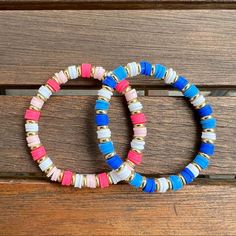
{"type": "Polygon", "coordinates": [[[0,10],[236,9],[235,0],[0,0],[0,10]]]}

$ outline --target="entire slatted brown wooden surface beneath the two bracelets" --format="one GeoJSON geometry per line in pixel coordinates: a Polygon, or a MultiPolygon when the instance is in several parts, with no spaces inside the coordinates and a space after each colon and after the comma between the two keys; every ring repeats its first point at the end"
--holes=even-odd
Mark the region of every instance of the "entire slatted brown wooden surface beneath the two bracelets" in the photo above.
{"type": "MultiPolygon", "coordinates": [[[[0,9],[0,235],[236,235],[235,1],[0,0],[0,9]],[[218,120],[210,167],[166,194],[127,184],[76,190],[48,182],[25,142],[23,114],[34,89],[71,64],[113,69],[142,59],[172,66],[209,95],[218,120]]],[[[180,171],[200,142],[194,112],[162,82],[130,82],[149,120],[137,170],[180,171]]],[[[58,166],[108,170],[96,145],[92,94],[99,86],[70,81],[45,106],[40,135],[58,166]]],[[[111,130],[123,158],[132,133],[127,115],[124,99],[114,97],[111,130]]]]}

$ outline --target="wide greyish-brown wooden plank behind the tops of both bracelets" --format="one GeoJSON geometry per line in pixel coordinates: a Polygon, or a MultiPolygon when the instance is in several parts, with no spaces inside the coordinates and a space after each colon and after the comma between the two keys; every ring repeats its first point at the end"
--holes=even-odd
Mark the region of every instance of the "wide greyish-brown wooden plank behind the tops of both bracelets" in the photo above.
{"type": "MultiPolygon", "coordinates": [[[[149,60],[201,86],[236,87],[236,14],[227,10],[2,11],[0,86],[38,86],[70,64],[149,60]],[[174,17],[170,17],[170,15],[174,17]]],[[[163,86],[133,79],[140,86],[163,86]]],[[[91,86],[90,80],[71,86],[91,86]]],[[[68,85],[68,86],[70,86],[68,85]]]]}

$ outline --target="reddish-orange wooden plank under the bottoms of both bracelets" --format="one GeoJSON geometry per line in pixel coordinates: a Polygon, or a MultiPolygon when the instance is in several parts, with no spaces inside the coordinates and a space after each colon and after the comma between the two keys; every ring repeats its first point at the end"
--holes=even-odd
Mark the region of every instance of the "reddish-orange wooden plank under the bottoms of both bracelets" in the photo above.
{"type": "Polygon", "coordinates": [[[128,185],[80,191],[1,181],[0,219],[0,234],[9,236],[235,235],[236,183],[201,183],[150,195],[128,185]]]}

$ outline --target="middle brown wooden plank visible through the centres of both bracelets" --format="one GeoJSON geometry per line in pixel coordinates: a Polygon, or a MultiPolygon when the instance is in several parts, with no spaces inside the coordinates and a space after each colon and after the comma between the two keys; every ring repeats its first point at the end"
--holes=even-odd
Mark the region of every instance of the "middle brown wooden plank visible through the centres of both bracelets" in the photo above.
{"type": "MultiPolygon", "coordinates": [[[[53,97],[45,105],[40,121],[41,141],[57,166],[81,173],[107,170],[99,153],[94,124],[95,97],[53,97]]],[[[236,97],[208,97],[218,120],[216,155],[203,174],[236,175],[236,97]]],[[[40,171],[31,160],[24,137],[23,114],[30,97],[0,96],[0,172],[40,171]]],[[[200,140],[195,116],[187,101],[174,97],[140,97],[149,120],[143,164],[145,174],[179,172],[191,161],[200,140]]],[[[125,158],[131,141],[131,124],[124,100],[114,97],[110,128],[117,153],[125,158]]]]}

